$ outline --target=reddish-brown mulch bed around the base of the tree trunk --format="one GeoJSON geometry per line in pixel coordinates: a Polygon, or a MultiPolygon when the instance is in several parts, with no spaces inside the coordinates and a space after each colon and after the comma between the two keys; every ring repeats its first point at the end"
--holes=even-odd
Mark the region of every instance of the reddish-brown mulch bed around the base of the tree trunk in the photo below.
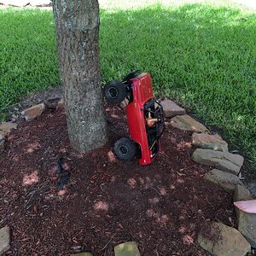
{"type": "Polygon", "coordinates": [[[232,198],[203,179],[190,160],[189,132],[167,127],[152,165],[117,160],[113,143],[127,135],[125,111],[107,108],[109,143],[78,154],[63,110],[48,110],[13,131],[0,155],[0,228],[11,228],[7,255],[113,255],[137,241],[142,255],[208,255],[196,242],[208,220],[236,225],[232,198]],[[71,177],[57,190],[60,157],[71,177]]]}

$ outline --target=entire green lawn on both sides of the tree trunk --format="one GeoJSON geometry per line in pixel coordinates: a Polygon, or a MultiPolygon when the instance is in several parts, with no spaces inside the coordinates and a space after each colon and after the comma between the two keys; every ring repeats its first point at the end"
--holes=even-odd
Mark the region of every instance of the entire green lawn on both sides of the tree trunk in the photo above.
{"type": "MultiPolygon", "coordinates": [[[[102,3],[102,81],[135,69],[151,73],[158,96],[169,96],[224,131],[230,148],[245,151],[256,168],[255,13],[228,1],[143,0],[134,3],[149,2],[147,7],[133,9],[121,2],[102,3]]],[[[8,9],[0,15],[3,112],[24,93],[60,79],[52,14],[8,9]]]]}

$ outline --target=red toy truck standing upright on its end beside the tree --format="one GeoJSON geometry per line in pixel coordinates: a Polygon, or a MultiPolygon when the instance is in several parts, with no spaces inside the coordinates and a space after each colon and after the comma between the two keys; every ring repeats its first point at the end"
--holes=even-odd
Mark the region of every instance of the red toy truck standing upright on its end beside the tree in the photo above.
{"type": "Polygon", "coordinates": [[[126,98],[130,137],[114,143],[113,151],[121,160],[137,156],[140,165],[148,165],[160,150],[160,137],[165,128],[163,108],[154,98],[149,73],[129,73],[122,82],[113,80],[105,85],[108,102],[118,104],[126,98]]]}

